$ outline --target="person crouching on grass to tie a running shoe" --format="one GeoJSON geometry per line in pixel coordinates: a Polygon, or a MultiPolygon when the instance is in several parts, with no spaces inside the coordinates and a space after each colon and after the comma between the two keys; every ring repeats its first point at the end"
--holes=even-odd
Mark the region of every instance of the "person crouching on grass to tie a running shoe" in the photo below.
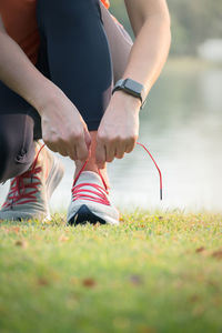
{"type": "Polygon", "coordinates": [[[37,23],[34,4],[0,4],[0,181],[12,179],[0,219],[48,215],[62,168],[39,145],[42,138],[50,150],[75,162],[68,222],[118,224],[105,163],[135,145],[141,103],[169,52],[165,0],[125,0],[137,37],[131,51],[99,0],[38,0],[37,23]],[[123,79],[114,89],[113,69],[123,79]]]}

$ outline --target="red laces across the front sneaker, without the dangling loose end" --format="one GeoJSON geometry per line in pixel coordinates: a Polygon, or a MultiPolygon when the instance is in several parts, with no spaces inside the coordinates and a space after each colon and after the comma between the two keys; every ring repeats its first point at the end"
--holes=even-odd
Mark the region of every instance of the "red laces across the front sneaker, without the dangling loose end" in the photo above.
{"type": "Polygon", "coordinates": [[[109,194],[108,192],[108,185],[99,170],[99,175],[101,178],[101,181],[104,185],[104,189],[98,184],[93,184],[93,183],[82,183],[79,185],[75,185],[80,174],[83,172],[84,168],[87,167],[88,161],[84,162],[83,167],[81,168],[81,170],[79,171],[79,173],[77,174],[74,181],[73,181],[73,185],[72,185],[72,200],[88,200],[88,201],[93,201],[97,203],[101,203],[101,204],[105,204],[105,205],[110,205],[110,202],[107,198],[107,195],[109,194]],[[84,186],[91,186],[93,190],[89,190],[89,189],[82,189],[84,186]],[[90,195],[88,193],[91,193],[93,195],[90,195]]]}

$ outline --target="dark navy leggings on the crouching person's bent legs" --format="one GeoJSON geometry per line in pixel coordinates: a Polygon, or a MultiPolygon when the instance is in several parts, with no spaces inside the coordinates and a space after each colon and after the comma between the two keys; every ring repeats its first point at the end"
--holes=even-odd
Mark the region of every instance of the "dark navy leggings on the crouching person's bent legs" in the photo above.
{"type": "MultiPolygon", "coordinates": [[[[103,7],[101,12],[99,0],[38,0],[41,46],[37,68],[74,103],[90,131],[98,129],[113,84],[103,14],[107,20],[109,14],[103,7]]],[[[107,23],[114,24],[112,19],[107,23]]],[[[111,37],[122,39],[122,58],[127,59],[128,37],[119,27],[110,30],[111,37]]],[[[0,82],[0,182],[28,170],[37,139],[41,139],[38,112],[0,82]]]]}

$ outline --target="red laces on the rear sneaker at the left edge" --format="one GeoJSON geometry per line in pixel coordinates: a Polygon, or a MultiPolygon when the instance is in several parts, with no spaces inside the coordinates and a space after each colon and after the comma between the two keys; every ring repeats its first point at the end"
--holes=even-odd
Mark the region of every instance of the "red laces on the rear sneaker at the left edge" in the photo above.
{"type": "Polygon", "coordinates": [[[38,185],[41,184],[38,173],[42,171],[41,167],[37,167],[37,161],[43,147],[44,144],[38,151],[32,168],[12,180],[10,185],[10,192],[2,208],[12,206],[13,204],[24,204],[37,201],[36,193],[38,192],[38,185]],[[24,179],[31,179],[31,181],[26,183],[24,179]]]}

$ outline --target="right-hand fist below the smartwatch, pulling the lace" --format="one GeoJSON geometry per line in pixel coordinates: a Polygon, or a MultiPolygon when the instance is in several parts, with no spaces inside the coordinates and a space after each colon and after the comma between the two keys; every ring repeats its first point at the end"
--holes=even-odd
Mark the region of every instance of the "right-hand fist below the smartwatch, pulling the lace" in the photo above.
{"type": "Polygon", "coordinates": [[[114,158],[130,153],[139,134],[139,99],[117,91],[101,120],[97,137],[97,163],[103,168],[114,158]]]}

